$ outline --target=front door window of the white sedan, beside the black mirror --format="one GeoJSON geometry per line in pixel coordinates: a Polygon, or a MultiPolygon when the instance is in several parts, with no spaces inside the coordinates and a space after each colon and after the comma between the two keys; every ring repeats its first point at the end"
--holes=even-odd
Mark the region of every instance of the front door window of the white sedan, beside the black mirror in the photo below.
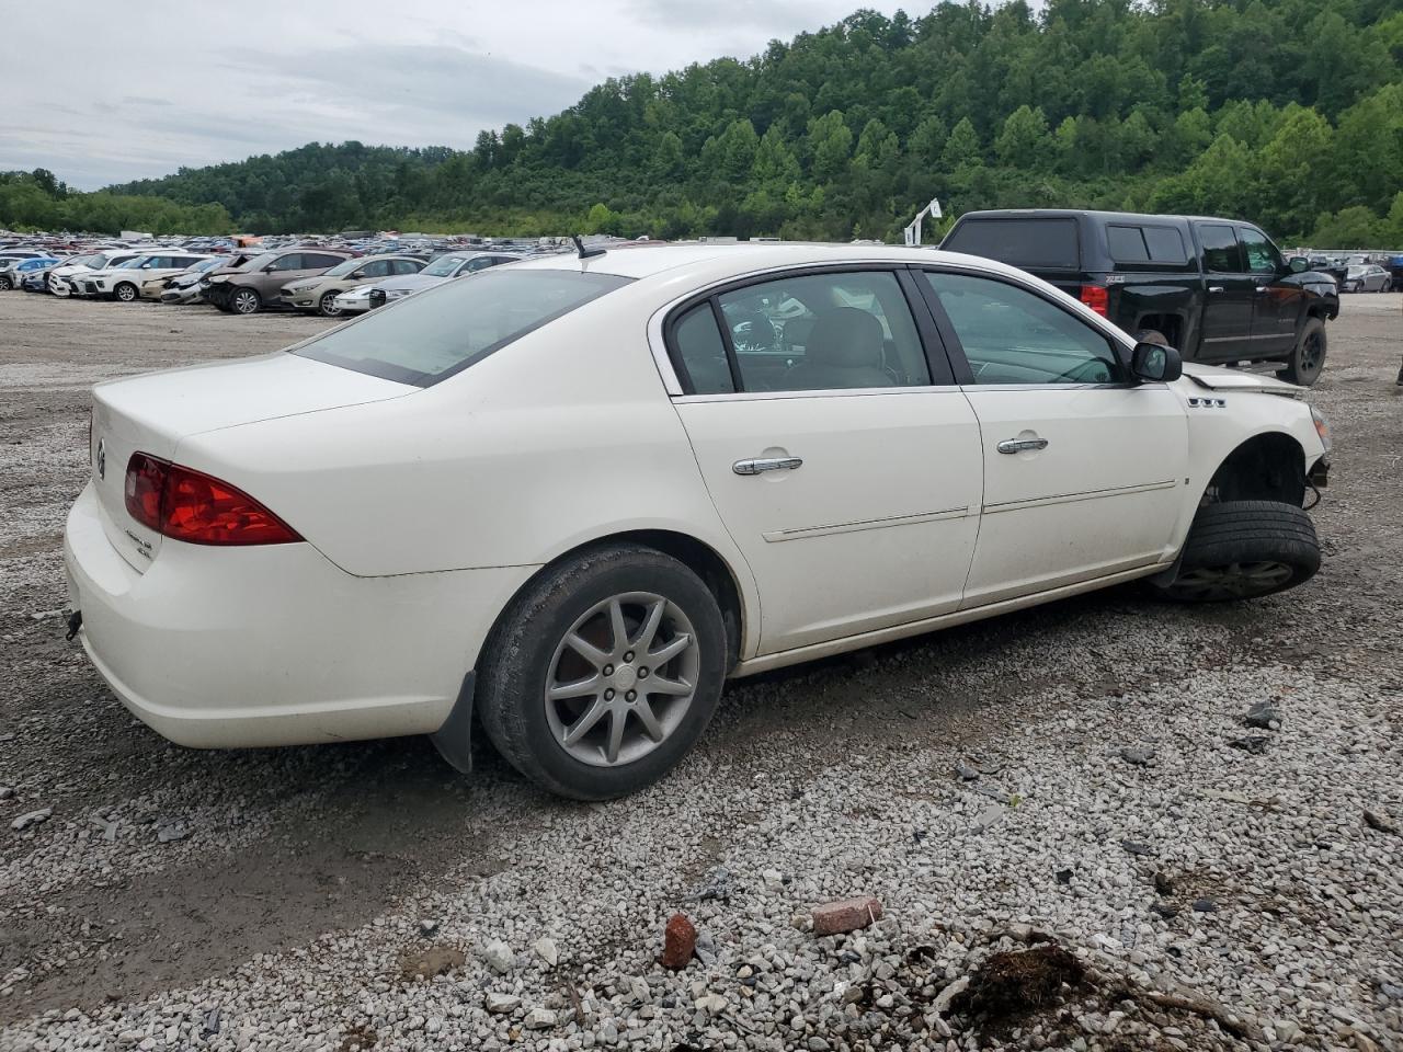
{"type": "Polygon", "coordinates": [[[976,384],[1115,383],[1111,341],[1070,311],[989,278],[926,271],[976,384]]]}

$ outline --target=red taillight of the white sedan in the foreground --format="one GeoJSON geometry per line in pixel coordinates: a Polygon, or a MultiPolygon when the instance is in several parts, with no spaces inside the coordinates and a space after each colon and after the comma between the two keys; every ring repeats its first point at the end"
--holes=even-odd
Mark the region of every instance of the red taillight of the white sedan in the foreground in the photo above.
{"type": "Polygon", "coordinates": [[[248,494],[146,453],[133,453],[126,464],[126,511],[147,529],[188,544],[302,540],[248,494]]]}

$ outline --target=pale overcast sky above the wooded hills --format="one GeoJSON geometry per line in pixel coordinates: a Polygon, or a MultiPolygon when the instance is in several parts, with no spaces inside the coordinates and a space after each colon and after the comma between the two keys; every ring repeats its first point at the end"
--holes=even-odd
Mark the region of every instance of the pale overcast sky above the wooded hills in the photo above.
{"type": "Polygon", "coordinates": [[[307,142],[471,147],[609,76],[661,73],[873,0],[10,1],[0,171],[81,189],[307,142]]]}

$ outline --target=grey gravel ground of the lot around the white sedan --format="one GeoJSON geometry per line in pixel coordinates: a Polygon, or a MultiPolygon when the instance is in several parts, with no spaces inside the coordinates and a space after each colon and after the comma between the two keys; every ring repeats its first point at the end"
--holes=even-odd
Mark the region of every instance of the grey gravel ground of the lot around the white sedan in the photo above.
{"type": "Polygon", "coordinates": [[[487,749],[136,724],[55,613],[86,389],[323,323],[0,293],[0,1049],[1403,1048],[1400,300],[1330,327],[1310,584],[746,680],[666,781],[578,805],[487,749]],[[808,930],[853,895],[884,917],[808,930]]]}

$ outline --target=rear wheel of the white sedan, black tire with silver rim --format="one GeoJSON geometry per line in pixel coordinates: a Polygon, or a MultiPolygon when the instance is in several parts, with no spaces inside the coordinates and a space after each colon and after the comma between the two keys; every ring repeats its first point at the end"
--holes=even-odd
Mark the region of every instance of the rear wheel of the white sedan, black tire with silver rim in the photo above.
{"type": "Polygon", "coordinates": [[[606,544],[549,567],[504,612],[478,663],[497,750],[551,793],[610,800],[666,774],[721,697],[725,624],[686,565],[606,544]]]}

